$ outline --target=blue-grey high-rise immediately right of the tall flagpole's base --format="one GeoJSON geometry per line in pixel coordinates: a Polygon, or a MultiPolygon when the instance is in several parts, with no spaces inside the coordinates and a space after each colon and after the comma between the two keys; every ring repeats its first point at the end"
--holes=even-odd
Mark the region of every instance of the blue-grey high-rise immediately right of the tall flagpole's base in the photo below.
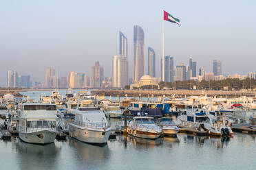
{"type": "MultiPolygon", "coordinates": [[[[162,59],[161,59],[161,70],[162,70],[162,59]]],[[[173,57],[164,56],[164,82],[174,82],[174,66],[173,57]]]]}

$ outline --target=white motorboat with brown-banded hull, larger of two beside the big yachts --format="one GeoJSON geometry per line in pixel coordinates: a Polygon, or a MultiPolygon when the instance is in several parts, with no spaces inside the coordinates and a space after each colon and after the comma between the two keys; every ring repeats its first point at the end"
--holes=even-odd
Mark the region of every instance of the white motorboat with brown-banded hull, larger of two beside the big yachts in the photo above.
{"type": "Polygon", "coordinates": [[[156,125],[153,117],[134,117],[133,121],[129,123],[127,132],[131,136],[138,138],[156,139],[162,134],[162,128],[156,125]]]}

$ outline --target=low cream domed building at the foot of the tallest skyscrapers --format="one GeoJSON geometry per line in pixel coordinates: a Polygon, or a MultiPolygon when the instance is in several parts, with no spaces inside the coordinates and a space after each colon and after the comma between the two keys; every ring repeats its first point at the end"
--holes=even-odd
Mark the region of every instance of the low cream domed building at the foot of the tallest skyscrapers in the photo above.
{"type": "Polygon", "coordinates": [[[141,88],[142,86],[158,86],[159,88],[160,79],[156,77],[151,77],[150,75],[142,75],[140,80],[134,82],[130,85],[130,89],[141,88]]]}

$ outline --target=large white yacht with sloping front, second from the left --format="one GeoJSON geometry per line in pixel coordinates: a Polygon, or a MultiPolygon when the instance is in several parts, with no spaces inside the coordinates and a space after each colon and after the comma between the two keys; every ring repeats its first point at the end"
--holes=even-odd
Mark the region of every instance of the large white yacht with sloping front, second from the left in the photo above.
{"type": "Polygon", "coordinates": [[[79,107],[74,113],[74,122],[69,123],[69,132],[73,138],[96,145],[107,144],[111,127],[103,112],[95,107],[79,107]]]}

